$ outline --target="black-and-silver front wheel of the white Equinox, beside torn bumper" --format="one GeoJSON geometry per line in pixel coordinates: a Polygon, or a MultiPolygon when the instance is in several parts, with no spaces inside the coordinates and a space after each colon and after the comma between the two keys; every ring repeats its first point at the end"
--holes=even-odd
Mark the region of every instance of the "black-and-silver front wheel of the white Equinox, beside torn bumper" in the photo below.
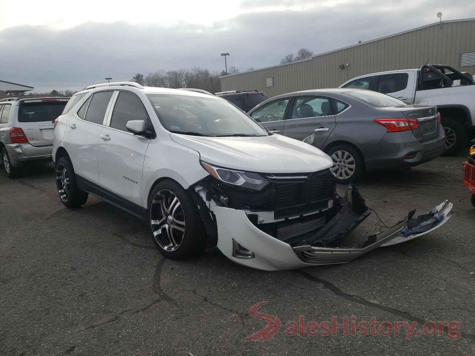
{"type": "Polygon", "coordinates": [[[198,207],[178,183],[163,180],[153,188],[148,217],[153,243],[164,256],[184,259],[204,250],[206,234],[198,207]]]}

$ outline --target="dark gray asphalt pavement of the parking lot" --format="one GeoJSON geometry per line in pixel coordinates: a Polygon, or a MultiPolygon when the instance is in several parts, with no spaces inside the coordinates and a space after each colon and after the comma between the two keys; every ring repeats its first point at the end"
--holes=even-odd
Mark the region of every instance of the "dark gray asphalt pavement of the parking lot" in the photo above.
{"type": "MultiPolygon", "coordinates": [[[[2,169],[0,355],[474,355],[475,208],[463,160],[359,185],[387,225],[450,199],[440,229],[346,264],[279,272],[220,253],[165,259],[133,216],[92,196],[63,206],[52,163],[17,179],[2,169]],[[336,327],[345,317],[348,335],[336,327]]],[[[383,229],[372,213],[350,239],[383,229]]]]}

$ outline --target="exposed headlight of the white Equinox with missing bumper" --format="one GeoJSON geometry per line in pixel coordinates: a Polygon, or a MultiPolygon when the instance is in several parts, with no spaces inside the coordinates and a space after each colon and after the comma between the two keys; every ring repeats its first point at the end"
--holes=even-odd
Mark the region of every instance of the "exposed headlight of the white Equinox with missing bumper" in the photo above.
{"type": "Polygon", "coordinates": [[[211,176],[228,184],[248,189],[262,190],[270,183],[266,178],[257,173],[215,167],[203,161],[200,161],[200,163],[211,176]]]}

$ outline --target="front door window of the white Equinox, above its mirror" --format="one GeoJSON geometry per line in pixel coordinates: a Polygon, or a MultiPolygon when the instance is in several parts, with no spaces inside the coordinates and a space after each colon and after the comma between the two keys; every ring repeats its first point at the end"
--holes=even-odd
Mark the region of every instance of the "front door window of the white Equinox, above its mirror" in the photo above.
{"type": "Polygon", "coordinates": [[[137,95],[120,92],[112,112],[110,126],[117,130],[128,131],[125,124],[129,120],[147,120],[148,115],[137,95]]]}

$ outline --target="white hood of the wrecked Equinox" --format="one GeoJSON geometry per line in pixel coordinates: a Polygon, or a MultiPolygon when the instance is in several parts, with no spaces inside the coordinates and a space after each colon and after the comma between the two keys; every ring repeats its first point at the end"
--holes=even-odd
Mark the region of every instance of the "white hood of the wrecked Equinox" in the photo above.
{"type": "Polygon", "coordinates": [[[262,137],[200,137],[171,133],[173,141],[199,152],[217,166],[262,173],[315,172],[333,161],[308,143],[281,135],[262,137]]]}

